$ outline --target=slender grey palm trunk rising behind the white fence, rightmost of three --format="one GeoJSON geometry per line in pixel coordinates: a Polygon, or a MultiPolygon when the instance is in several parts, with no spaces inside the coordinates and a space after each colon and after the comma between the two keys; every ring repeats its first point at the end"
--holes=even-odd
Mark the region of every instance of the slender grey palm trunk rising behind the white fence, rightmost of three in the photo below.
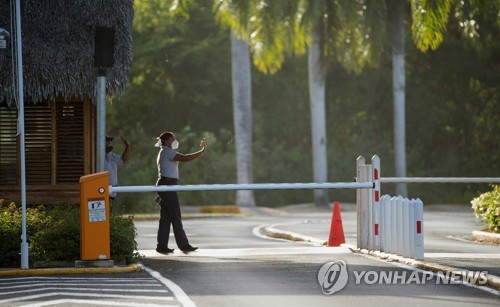
{"type": "MultiPolygon", "coordinates": [[[[403,2],[394,2],[392,86],[394,96],[394,159],[396,177],[406,177],[405,32],[403,2]]],[[[407,197],[406,183],[396,185],[397,195],[407,197]]]]}

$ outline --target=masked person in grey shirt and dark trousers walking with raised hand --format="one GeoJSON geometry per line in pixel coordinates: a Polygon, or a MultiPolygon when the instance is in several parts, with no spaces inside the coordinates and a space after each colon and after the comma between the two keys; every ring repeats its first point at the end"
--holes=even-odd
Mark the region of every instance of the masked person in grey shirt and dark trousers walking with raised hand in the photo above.
{"type": "MultiPolygon", "coordinates": [[[[200,142],[201,149],[190,153],[181,154],[176,151],[179,142],[172,132],[163,132],[157,138],[156,147],[160,147],[156,163],[158,165],[158,181],[156,185],[177,185],[179,183],[179,162],[188,162],[201,157],[205,151],[205,139],[200,142]]],[[[175,242],[183,252],[192,252],[198,249],[191,246],[182,226],[181,208],[176,191],[158,192],[157,201],[160,204],[160,222],[158,227],[158,245],[156,251],[168,254],[174,250],[168,248],[170,225],[173,226],[175,242]]]]}

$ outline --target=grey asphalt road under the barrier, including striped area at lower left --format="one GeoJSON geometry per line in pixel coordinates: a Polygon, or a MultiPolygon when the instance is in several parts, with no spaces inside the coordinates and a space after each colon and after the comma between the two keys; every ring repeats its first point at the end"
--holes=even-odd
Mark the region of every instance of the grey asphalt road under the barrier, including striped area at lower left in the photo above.
{"type": "MultiPolygon", "coordinates": [[[[191,244],[199,250],[182,253],[172,241],[176,251],[169,255],[154,251],[158,222],[137,220],[138,248],[146,257],[143,271],[1,277],[0,306],[500,305],[500,292],[485,287],[352,253],[347,247],[264,235],[272,226],[326,240],[328,211],[294,207],[286,214],[260,213],[266,214],[185,220],[191,244]]],[[[427,210],[425,215],[426,258],[469,255],[459,259],[469,268],[498,271],[499,246],[468,241],[470,231],[480,227],[470,213],[447,209],[427,210]]],[[[346,241],[355,244],[353,208],[343,207],[342,218],[346,241]]]]}

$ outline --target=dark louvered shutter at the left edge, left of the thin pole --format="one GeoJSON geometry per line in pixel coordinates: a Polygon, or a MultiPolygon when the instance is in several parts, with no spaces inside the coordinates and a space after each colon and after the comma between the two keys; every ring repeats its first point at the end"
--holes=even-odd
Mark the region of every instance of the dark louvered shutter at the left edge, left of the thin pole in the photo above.
{"type": "Polygon", "coordinates": [[[0,105],[0,185],[17,184],[17,110],[0,105]]]}

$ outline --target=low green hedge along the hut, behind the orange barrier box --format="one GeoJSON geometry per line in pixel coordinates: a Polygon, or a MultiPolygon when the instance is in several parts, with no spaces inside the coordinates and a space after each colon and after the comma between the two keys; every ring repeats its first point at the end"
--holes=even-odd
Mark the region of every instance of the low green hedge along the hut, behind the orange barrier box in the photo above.
{"type": "MultiPolygon", "coordinates": [[[[21,208],[0,200],[0,267],[20,264],[21,208]]],[[[37,261],[80,259],[80,208],[75,205],[37,206],[26,209],[30,265],[37,261]]],[[[140,259],[132,217],[111,213],[110,249],[115,262],[140,259]]]]}

